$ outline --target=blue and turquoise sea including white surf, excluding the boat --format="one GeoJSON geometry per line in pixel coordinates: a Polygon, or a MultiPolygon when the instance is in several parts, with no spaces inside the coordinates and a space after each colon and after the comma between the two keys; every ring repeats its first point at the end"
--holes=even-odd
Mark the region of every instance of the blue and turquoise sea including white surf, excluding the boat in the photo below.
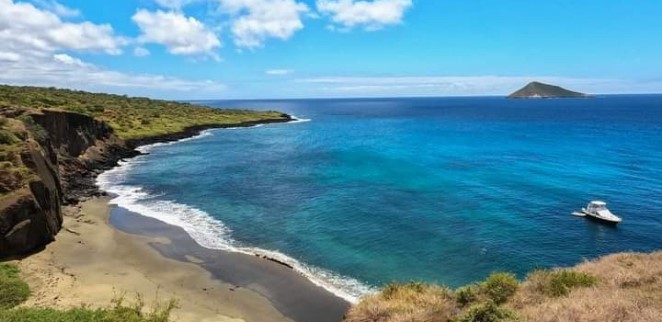
{"type": "Polygon", "coordinates": [[[148,148],[103,179],[118,204],[353,294],[338,276],[459,286],[662,248],[662,96],[205,103],[311,121],[148,148]],[[595,199],[624,222],[570,215],[595,199]]]}

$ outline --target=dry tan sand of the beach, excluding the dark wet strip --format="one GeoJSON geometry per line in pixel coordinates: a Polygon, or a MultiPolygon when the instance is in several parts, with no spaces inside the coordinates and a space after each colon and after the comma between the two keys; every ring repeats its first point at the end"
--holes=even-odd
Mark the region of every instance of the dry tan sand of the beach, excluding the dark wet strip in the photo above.
{"type": "MultiPolygon", "coordinates": [[[[223,283],[202,267],[162,256],[166,238],[128,234],[109,222],[108,199],[65,208],[57,241],[16,262],[33,296],[25,306],[105,306],[120,294],[147,304],[176,299],[176,321],[292,321],[266,297],[223,283]]],[[[196,261],[189,257],[190,261],[196,261]]]]}

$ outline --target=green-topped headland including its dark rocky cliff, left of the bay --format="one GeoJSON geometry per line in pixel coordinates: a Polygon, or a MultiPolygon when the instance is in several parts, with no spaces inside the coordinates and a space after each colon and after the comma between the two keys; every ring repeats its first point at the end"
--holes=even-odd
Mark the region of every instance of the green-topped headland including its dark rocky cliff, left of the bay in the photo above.
{"type": "Polygon", "coordinates": [[[291,120],[275,111],[0,85],[0,258],[52,242],[61,206],[100,195],[96,175],[139,154],[138,145],[291,120]]]}

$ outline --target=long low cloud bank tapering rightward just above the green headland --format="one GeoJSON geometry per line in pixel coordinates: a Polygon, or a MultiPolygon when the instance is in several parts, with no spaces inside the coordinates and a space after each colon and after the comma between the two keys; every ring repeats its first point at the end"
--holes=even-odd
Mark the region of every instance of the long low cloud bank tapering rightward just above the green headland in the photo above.
{"type": "Polygon", "coordinates": [[[100,68],[66,54],[27,56],[18,61],[0,60],[0,83],[56,86],[160,98],[209,98],[225,85],[149,74],[127,74],[100,68]]]}

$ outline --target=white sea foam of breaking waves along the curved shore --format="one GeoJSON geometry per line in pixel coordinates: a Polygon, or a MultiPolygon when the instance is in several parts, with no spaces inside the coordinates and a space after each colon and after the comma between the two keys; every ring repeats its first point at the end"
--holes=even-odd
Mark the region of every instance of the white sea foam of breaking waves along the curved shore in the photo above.
{"type": "MultiPolygon", "coordinates": [[[[290,123],[310,121],[309,119],[299,119],[296,117],[294,117],[294,119],[295,120],[290,123]]],[[[179,141],[145,145],[138,148],[138,150],[147,153],[158,147],[207,137],[213,135],[213,131],[218,130],[223,129],[206,130],[197,136],[179,141]]],[[[314,284],[323,287],[327,291],[349,301],[350,303],[356,303],[359,298],[375,292],[375,288],[354,278],[342,276],[323,268],[307,265],[282,252],[242,245],[238,241],[232,239],[232,230],[229,227],[223,224],[220,220],[212,217],[210,214],[189,205],[170,200],[163,200],[161,198],[167,196],[149,194],[145,192],[142,187],[124,184],[126,178],[130,175],[131,169],[144,163],[145,157],[146,156],[137,156],[128,161],[121,161],[117,167],[108,170],[97,177],[97,185],[99,188],[114,196],[110,201],[111,204],[115,204],[146,217],[158,219],[170,225],[181,227],[202,247],[258,255],[285,263],[291,266],[297,273],[308,278],[314,284]]]]}

